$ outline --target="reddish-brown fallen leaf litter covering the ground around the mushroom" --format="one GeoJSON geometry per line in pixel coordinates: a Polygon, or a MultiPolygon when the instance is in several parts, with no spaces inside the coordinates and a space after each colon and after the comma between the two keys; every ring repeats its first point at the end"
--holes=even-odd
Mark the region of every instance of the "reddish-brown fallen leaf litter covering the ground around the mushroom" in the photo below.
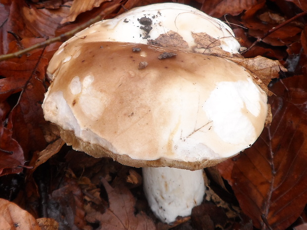
{"type": "MultiPolygon", "coordinates": [[[[127,9],[148,4],[143,0],[116,2],[123,3],[127,9]]],[[[188,0],[179,2],[191,3],[188,0]]],[[[197,2],[199,8],[210,15],[221,17],[228,14],[222,20],[231,23],[230,26],[236,37],[240,38],[240,43],[249,48],[243,55],[251,58],[250,63],[241,64],[247,65],[248,68],[254,65],[252,72],[256,72],[256,75],[266,71],[260,75],[267,76],[269,72],[269,78],[260,79],[264,85],[267,85],[271,78],[277,77],[279,70],[284,69],[274,64],[274,61],[271,61],[269,66],[265,66],[265,61],[262,61],[264,66],[259,67],[255,64],[256,56],[279,60],[292,71],[283,73],[283,78],[289,77],[288,79],[282,79],[269,87],[274,93],[269,98],[273,119],[255,145],[218,166],[222,177],[232,186],[234,194],[227,189],[227,184],[222,185],[223,180],[211,178],[210,187],[214,190],[211,194],[216,192],[219,197],[228,200],[230,208],[236,209],[234,213],[237,214],[233,215],[232,221],[215,220],[210,213],[203,210],[209,207],[212,213],[219,216],[223,216],[227,211],[225,206],[216,206],[216,199],[208,199],[195,209],[186,223],[175,227],[156,223],[146,201],[142,201],[145,205],[140,209],[140,197],[137,197],[135,192],[131,193],[132,190],[142,193],[141,174],[136,170],[67,150],[66,146],[60,148],[62,143],[57,140],[56,131],[55,135],[51,135],[51,126],[45,123],[40,108],[49,84],[45,81],[45,69],[60,45],[57,43],[0,63],[0,149],[5,150],[0,151],[0,175],[25,172],[27,187],[25,191],[21,189],[20,194],[27,194],[27,200],[16,198],[15,202],[27,203],[28,207],[32,207],[29,213],[32,214],[34,223],[35,219],[39,222],[38,211],[34,210],[38,209],[37,203],[41,202],[40,187],[44,185],[36,180],[35,174],[41,172],[42,167],[48,171],[47,165],[52,174],[49,185],[48,175],[42,176],[46,179],[45,185],[49,190],[48,215],[54,219],[53,222],[51,219],[42,219],[42,222],[51,223],[46,224],[50,225],[51,229],[180,230],[194,227],[204,229],[206,225],[213,229],[251,230],[254,225],[257,229],[285,230],[298,218],[307,221],[304,215],[307,200],[304,186],[307,184],[307,88],[306,79],[298,76],[307,74],[306,23],[302,18],[297,18],[279,31],[261,39],[273,27],[306,10],[307,3],[296,0],[274,1],[271,5],[265,1],[254,0],[197,2]],[[44,150],[46,146],[48,147],[44,150]],[[56,152],[60,153],[55,154],[56,152]],[[28,166],[33,168],[22,168],[28,166]],[[103,195],[104,193],[106,194],[103,195]],[[236,207],[236,202],[239,202],[242,211],[236,207]]],[[[78,0],[27,3],[17,0],[1,1],[0,53],[17,51],[76,28],[114,2],[90,1],[88,5],[78,0]],[[73,4],[75,9],[70,7],[73,4]],[[69,20],[68,15],[72,16],[69,20]]],[[[110,17],[123,12],[124,8],[118,10],[110,17]]],[[[26,212],[20,208],[17,210],[18,213],[26,212]]],[[[31,215],[29,213],[25,215],[31,215]]],[[[12,223],[9,225],[13,226],[12,223]]],[[[300,226],[304,228],[304,222],[297,224],[294,229],[300,230],[300,226]]]]}

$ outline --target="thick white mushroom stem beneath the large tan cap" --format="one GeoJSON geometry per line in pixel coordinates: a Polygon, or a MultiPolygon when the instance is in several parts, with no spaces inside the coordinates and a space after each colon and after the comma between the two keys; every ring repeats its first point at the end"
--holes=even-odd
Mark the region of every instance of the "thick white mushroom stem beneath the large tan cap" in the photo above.
{"type": "Polygon", "coordinates": [[[190,216],[205,195],[203,170],[143,168],[144,191],[153,213],[163,222],[190,216]]]}

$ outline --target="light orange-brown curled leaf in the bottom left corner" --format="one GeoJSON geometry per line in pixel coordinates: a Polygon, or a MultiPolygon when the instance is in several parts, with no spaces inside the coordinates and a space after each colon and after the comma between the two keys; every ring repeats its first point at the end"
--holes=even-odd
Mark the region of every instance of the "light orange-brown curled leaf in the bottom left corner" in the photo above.
{"type": "Polygon", "coordinates": [[[41,230],[34,217],[18,205],[0,199],[1,230],[41,230]]]}

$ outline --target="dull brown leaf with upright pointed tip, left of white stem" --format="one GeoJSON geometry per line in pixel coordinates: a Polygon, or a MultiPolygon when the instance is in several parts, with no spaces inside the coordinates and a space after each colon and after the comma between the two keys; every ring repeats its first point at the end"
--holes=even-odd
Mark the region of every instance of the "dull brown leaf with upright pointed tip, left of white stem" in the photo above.
{"type": "Polygon", "coordinates": [[[91,212],[87,221],[100,223],[101,230],[155,230],[153,221],[144,213],[135,213],[135,198],[129,189],[117,184],[114,188],[105,179],[102,184],[107,192],[109,208],[103,214],[91,212]]]}

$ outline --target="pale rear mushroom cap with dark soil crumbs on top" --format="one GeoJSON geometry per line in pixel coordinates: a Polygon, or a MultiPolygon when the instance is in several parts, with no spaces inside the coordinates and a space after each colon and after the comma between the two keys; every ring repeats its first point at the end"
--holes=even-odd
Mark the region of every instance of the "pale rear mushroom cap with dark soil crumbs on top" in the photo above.
{"type": "Polygon", "coordinates": [[[79,32],[69,42],[128,42],[177,47],[192,52],[238,53],[240,44],[229,26],[191,6],[157,3],[133,8],[79,32]]]}

